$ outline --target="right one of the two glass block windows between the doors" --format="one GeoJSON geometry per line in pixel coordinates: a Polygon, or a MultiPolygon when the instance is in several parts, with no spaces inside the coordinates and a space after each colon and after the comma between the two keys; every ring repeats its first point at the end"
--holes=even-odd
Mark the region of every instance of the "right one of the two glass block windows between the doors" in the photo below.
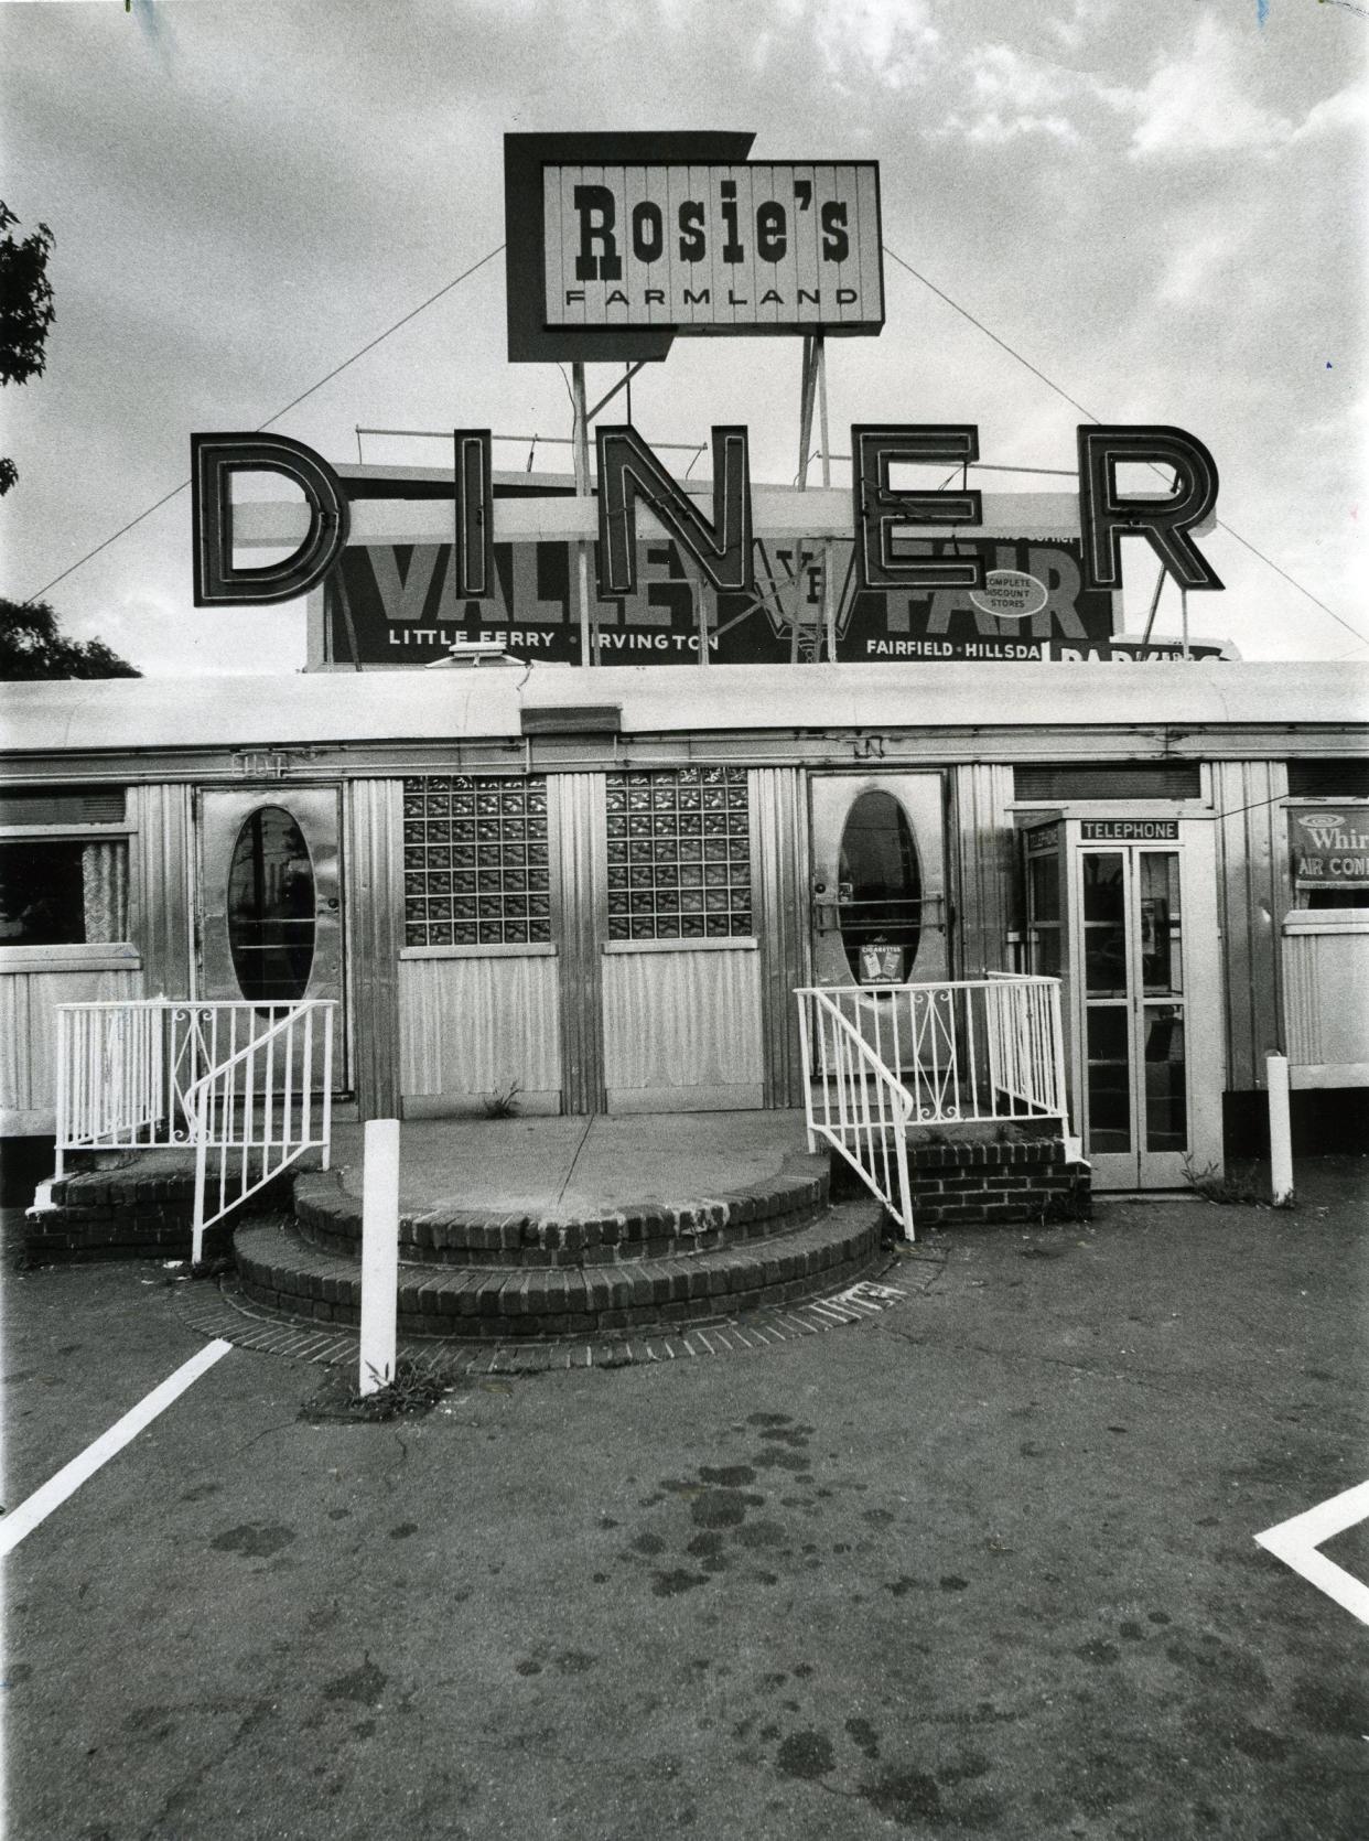
{"type": "Polygon", "coordinates": [[[745,768],[609,773],[609,939],[751,933],[745,768]]]}

